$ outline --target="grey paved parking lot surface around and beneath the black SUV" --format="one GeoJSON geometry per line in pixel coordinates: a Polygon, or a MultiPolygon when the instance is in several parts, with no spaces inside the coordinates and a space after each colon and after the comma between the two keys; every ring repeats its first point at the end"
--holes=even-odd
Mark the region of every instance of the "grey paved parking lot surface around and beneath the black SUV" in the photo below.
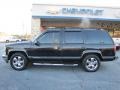
{"type": "MultiPolygon", "coordinates": [[[[97,72],[77,66],[39,65],[15,71],[2,59],[0,43],[0,90],[119,90],[120,59],[102,62],[97,72]]],[[[120,51],[117,51],[120,57],[120,51]]]]}

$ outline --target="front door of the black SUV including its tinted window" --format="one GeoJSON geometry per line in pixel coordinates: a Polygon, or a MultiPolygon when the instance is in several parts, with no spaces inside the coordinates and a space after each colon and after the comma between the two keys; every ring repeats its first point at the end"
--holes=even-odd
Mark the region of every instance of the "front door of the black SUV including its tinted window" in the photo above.
{"type": "Polygon", "coordinates": [[[49,31],[37,38],[39,45],[33,45],[30,56],[39,58],[54,58],[60,56],[60,31],[49,31]]]}

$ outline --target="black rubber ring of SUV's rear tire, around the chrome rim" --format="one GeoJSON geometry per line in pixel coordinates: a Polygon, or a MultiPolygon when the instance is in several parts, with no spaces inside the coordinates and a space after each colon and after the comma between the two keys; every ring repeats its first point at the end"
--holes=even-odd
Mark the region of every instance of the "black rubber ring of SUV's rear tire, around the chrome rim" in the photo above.
{"type": "Polygon", "coordinates": [[[83,66],[83,68],[85,69],[85,71],[87,71],[87,72],[95,72],[95,71],[97,71],[97,70],[99,69],[99,67],[100,67],[100,58],[99,58],[97,55],[86,55],[85,58],[84,58],[83,61],[82,61],[82,66],[83,66]],[[87,61],[88,58],[91,58],[91,57],[96,58],[96,60],[97,60],[97,62],[98,62],[98,67],[97,67],[95,70],[89,70],[88,68],[86,68],[86,61],[87,61]]]}

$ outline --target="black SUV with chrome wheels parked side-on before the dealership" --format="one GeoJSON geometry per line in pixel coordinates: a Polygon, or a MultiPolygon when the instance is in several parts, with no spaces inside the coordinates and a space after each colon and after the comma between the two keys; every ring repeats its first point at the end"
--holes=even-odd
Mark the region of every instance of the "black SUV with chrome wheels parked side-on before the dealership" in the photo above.
{"type": "Polygon", "coordinates": [[[28,63],[77,63],[94,72],[101,61],[115,59],[115,45],[105,30],[48,29],[34,40],[6,45],[3,58],[15,70],[23,70],[28,63]]]}

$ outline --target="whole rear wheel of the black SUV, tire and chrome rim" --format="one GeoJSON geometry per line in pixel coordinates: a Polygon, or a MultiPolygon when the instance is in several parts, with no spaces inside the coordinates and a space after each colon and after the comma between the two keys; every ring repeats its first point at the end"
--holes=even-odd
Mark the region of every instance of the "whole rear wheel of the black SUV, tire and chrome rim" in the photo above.
{"type": "Polygon", "coordinates": [[[87,72],[95,72],[100,67],[100,58],[97,55],[86,55],[82,61],[82,66],[87,72]]]}

